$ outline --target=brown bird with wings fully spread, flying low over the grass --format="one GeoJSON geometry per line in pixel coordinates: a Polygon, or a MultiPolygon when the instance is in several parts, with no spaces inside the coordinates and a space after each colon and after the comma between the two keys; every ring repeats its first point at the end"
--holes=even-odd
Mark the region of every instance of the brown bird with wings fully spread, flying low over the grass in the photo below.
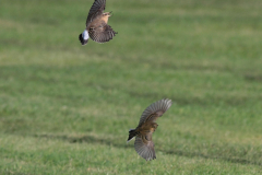
{"type": "Polygon", "coordinates": [[[153,103],[143,112],[139,126],[129,130],[128,142],[135,137],[134,149],[146,161],[156,159],[152,135],[157,128],[155,122],[169,107],[171,100],[165,98],[153,103]]]}

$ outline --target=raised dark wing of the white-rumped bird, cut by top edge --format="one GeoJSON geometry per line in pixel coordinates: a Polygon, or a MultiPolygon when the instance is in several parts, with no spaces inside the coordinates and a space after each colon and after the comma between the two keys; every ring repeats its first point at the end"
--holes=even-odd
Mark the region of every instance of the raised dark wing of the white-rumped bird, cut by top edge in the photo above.
{"type": "Polygon", "coordinates": [[[106,9],[106,0],[95,0],[86,19],[86,26],[106,9]]]}

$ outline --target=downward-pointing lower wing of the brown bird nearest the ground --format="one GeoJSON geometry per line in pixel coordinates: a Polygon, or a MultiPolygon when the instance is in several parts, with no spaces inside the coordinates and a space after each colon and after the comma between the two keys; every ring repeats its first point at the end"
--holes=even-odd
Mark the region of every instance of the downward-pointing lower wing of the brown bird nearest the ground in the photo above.
{"type": "Polygon", "coordinates": [[[136,136],[134,149],[138,154],[140,154],[146,161],[156,159],[154,142],[152,141],[152,132],[148,132],[146,136],[136,136]]]}

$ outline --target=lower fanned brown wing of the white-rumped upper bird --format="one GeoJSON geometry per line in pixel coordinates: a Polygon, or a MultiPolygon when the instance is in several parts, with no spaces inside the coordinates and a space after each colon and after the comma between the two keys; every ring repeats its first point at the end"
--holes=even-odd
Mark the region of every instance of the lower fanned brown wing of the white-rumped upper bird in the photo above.
{"type": "Polygon", "coordinates": [[[116,36],[115,32],[110,25],[103,22],[99,27],[90,28],[90,37],[97,43],[106,43],[112,39],[116,36]]]}

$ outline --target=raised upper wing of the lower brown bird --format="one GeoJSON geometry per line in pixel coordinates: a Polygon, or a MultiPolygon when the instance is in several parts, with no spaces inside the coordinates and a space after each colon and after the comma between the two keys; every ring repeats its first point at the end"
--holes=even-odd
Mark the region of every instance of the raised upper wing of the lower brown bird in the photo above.
{"type": "Polygon", "coordinates": [[[151,104],[143,112],[138,127],[141,127],[146,121],[155,121],[171,106],[171,100],[164,98],[151,104]]]}

